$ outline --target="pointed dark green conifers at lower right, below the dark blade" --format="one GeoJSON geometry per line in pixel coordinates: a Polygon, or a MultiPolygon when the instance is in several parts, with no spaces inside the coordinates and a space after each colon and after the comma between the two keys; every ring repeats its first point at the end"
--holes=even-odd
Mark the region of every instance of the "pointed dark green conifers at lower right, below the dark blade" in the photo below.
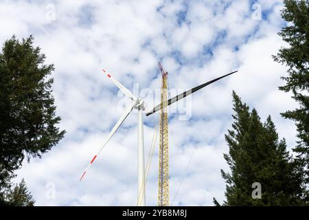
{"type": "Polygon", "coordinates": [[[231,173],[221,170],[227,183],[225,206],[294,206],[302,204],[304,186],[299,166],[278,140],[268,116],[264,124],[258,112],[249,111],[233,91],[232,129],[225,135],[229,154],[224,154],[231,173]],[[253,199],[252,184],[262,186],[262,199],[253,199]]]}

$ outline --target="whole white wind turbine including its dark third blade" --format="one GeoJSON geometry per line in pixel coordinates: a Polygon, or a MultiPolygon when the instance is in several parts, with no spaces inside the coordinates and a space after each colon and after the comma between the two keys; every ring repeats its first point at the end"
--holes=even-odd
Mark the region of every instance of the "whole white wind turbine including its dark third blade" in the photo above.
{"type": "MultiPolygon", "coordinates": [[[[138,161],[137,161],[137,172],[138,172],[138,205],[139,206],[145,206],[145,170],[144,170],[144,130],[143,130],[143,111],[145,110],[145,102],[142,98],[137,98],[134,96],[126,87],[124,87],[121,83],[119,83],[115,78],[113,78],[110,74],[108,74],[104,69],[102,69],[104,73],[112,80],[112,82],[126,95],[128,98],[132,100],[130,106],[124,110],[124,113],[122,113],[121,117],[111,130],[111,132],[106,137],[106,140],[104,144],[100,147],[100,150],[97,154],[94,155],[93,159],[91,159],[91,162],[87,166],[87,168],[84,170],[84,173],[82,173],[82,177],[80,177],[80,181],[84,177],[84,175],[87,173],[87,170],[90,168],[91,164],[95,161],[95,159],[98,157],[98,155],[103,150],[104,146],[108,143],[108,141],[111,139],[111,137],[114,135],[114,133],[117,131],[119,126],[126,120],[128,115],[133,109],[138,109],[138,161]]],[[[179,94],[178,96],[175,96],[173,98],[170,98],[167,102],[168,104],[165,104],[165,106],[168,106],[178,100],[181,100],[181,98],[185,98],[185,96],[188,96],[190,94],[193,94],[195,91],[198,91],[199,89],[202,89],[203,87],[216,82],[217,80],[220,80],[221,78],[225,78],[226,76],[229,76],[235,72],[231,72],[230,74],[226,74],[224,76],[221,76],[219,78],[216,78],[214,80],[211,80],[207,83],[204,83],[202,85],[199,85],[198,87],[194,87],[193,89],[190,89],[188,91],[185,91],[183,94],[179,94]]],[[[152,113],[155,113],[156,111],[159,111],[163,108],[163,103],[158,104],[155,108],[153,108],[151,111],[148,111],[146,115],[151,115],[152,113]]]]}

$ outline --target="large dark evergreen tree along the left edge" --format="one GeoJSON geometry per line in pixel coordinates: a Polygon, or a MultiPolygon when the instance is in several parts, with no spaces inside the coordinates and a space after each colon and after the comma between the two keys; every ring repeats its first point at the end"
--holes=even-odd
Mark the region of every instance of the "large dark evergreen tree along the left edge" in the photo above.
{"type": "Polygon", "coordinates": [[[27,157],[41,157],[64,136],[52,96],[53,65],[33,37],[5,41],[0,51],[0,202],[14,170],[27,157]]]}

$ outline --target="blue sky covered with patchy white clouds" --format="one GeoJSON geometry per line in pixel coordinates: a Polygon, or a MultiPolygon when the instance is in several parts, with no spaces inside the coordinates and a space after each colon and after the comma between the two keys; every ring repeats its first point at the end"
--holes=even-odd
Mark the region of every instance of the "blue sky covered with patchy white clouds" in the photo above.
{"type": "MultiPolygon", "coordinates": [[[[170,203],[213,206],[222,202],[228,170],[225,133],[231,128],[231,92],[262,120],[271,114],[279,137],[295,144],[295,126],[279,113],[295,103],[278,91],[286,67],[271,58],[284,42],[279,0],[221,1],[12,1],[0,3],[0,42],[30,34],[54,63],[54,98],[65,138],[42,159],[18,170],[37,206],[135,206],[137,113],[133,111],[96,159],[84,168],[128,104],[101,67],[147,108],[159,103],[157,61],[169,72],[171,96],[208,80],[239,72],[172,107],[169,122],[170,203]],[[181,179],[185,174],[181,184],[181,179]],[[179,188],[181,184],[181,187],[179,188]],[[176,191],[179,192],[176,195],[176,191]],[[176,197],[175,197],[176,195],[176,197]]],[[[158,115],[144,117],[145,164],[158,115]]],[[[157,142],[158,143],[158,142],[157,142]]],[[[146,186],[146,204],[157,205],[158,144],[146,186]]]]}

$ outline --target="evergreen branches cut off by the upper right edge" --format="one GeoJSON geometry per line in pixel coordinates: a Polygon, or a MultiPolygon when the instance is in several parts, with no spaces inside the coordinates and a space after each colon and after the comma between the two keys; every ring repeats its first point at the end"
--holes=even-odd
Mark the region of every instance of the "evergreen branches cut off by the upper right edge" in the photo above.
{"type": "Polygon", "coordinates": [[[284,6],[282,18],[289,24],[279,36],[289,47],[282,47],[273,58],[289,68],[288,76],[282,77],[286,85],[279,89],[291,91],[299,108],[282,116],[295,121],[299,141],[294,151],[299,154],[298,162],[304,164],[309,183],[309,1],[285,0],[284,6]]]}

